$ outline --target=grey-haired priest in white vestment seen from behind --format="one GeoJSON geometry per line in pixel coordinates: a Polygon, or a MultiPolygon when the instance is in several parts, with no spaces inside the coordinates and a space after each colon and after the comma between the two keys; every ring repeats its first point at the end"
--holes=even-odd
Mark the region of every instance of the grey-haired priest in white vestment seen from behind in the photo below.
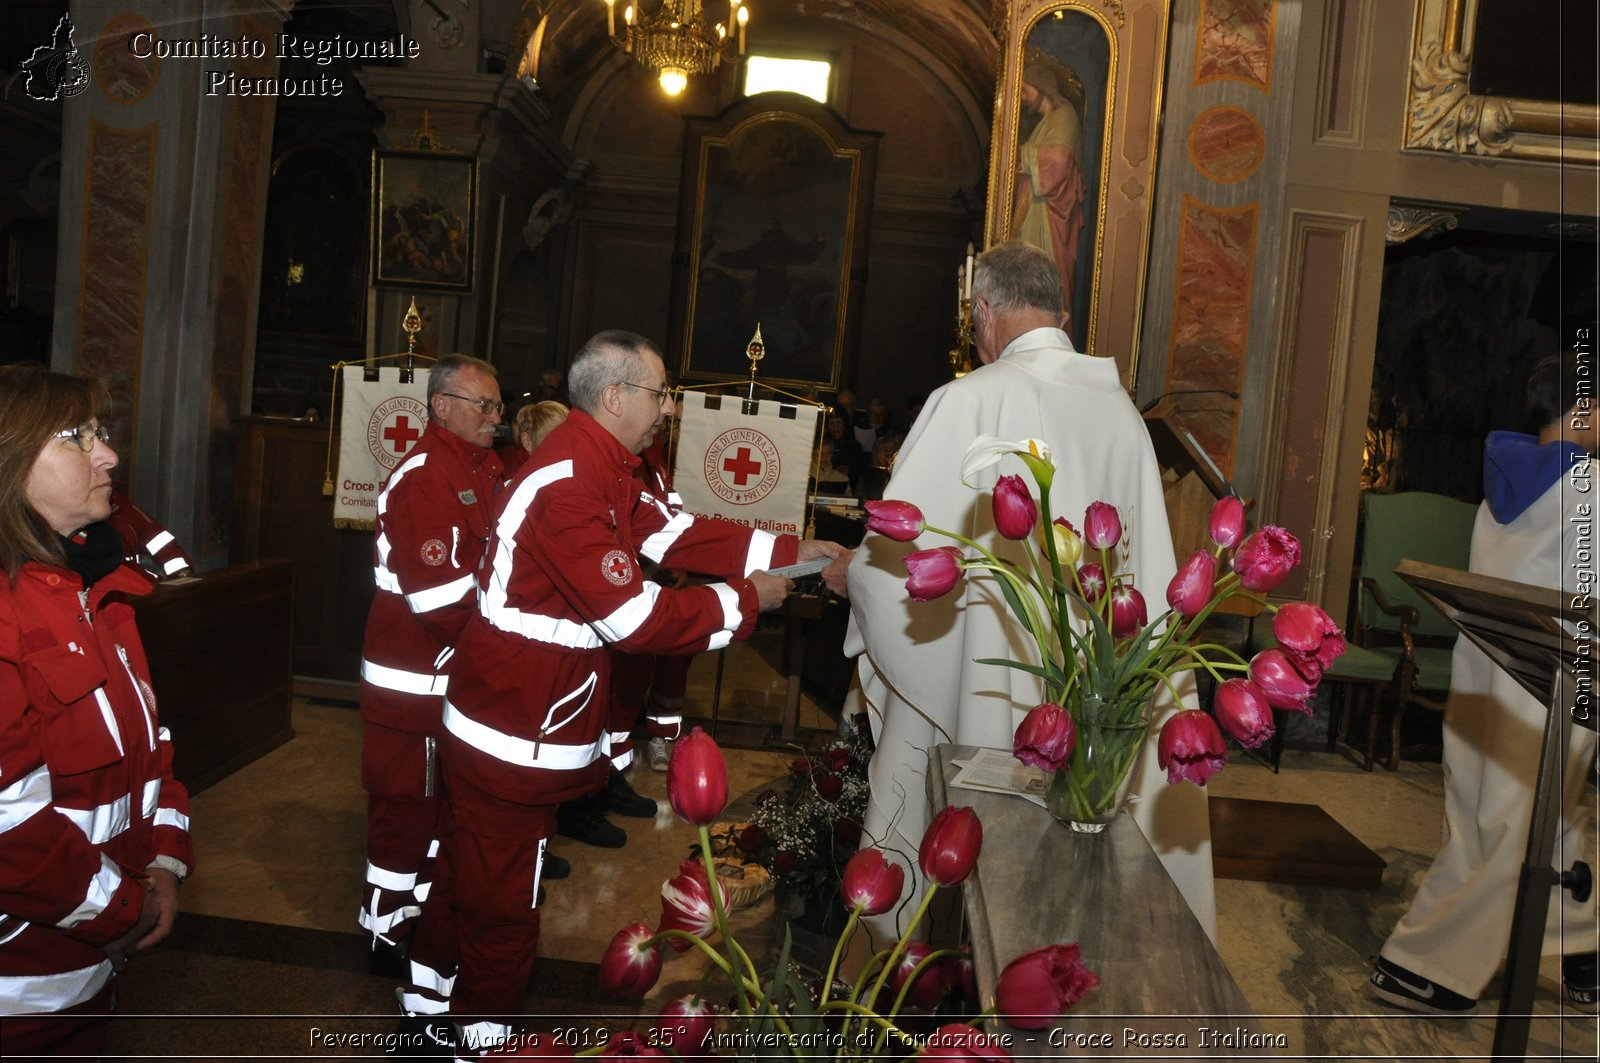
{"type": "MultiPolygon", "coordinates": [[[[915,503],[930,525],[960,532],[1000,557],[1024,562],[1027,543],[995,532],[989,491],[1005,474],[1022,474],[1032,483],[1026,467],[1011,456],[966,487],[962,456],[982,434],[1040,439],[1056,466],[1051,512],[1082,527],[1090,503],[1117,506],[1133,549],[1136,586],[1155,610],[1165,602],[1176,564],[1150,437],[1122,387],[1115,360],[1074,351],[1058,327],[1061,314],[1061,283],[1045,251],[1013,242],[978,258],[973,315],[982,365],[928,399],[883,498],[915,503]]],[[[930,820],[928,751],[939,743],[1010,749],[1018,724],[1043,700],[1035,676],[974,663],[1038,660],[1037,645],[992,576],[968,572],[941,599],[907,597],[906,556],[947,544],[938,536],[925,540],[896,543],[867,535],[850,564],[851,623],[845,637],[845,653],[861,658],[858,679],[877,740],[862,844],[898,850],[915,887],[912,897],[923,889],[915,853],[930,820]]],[[[1194,688],[1192,682],[1187,688],[1194,688]]],[[[1163,695],[1157,728],[1176,708],[1163,695]]],[[[1170,784],[1155,764],[1154,740],[1134,772],[1134,821],[1214,940],[1205,789],[1170,784]]],[[[890,930],[886,919],[878,930],[890,930]]]]}

